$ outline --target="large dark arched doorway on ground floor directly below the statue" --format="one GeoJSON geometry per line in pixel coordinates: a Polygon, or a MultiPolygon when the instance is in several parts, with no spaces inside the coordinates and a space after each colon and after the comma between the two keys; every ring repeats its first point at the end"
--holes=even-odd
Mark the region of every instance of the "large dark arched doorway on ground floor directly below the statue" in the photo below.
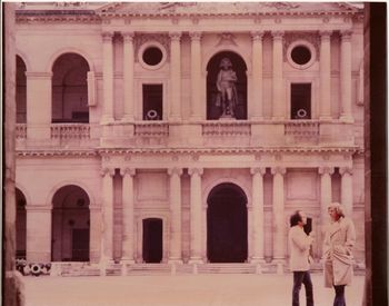
{"type": "Polygon", "coordinates": [[[245,263],[248,257],[247,197],[230,182],[208,196],[207,256],[210,263],[245,263]]]}

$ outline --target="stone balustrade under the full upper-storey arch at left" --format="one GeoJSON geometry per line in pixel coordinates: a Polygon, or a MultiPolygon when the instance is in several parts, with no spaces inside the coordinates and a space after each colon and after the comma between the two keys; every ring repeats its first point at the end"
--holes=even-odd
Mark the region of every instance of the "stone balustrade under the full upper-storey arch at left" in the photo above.
{"type": "Polygon", "coordinates": [[[88,124],[51,125],[51,139],[61,139],[61,140],[90,139],[90,126],[88,124]]]}

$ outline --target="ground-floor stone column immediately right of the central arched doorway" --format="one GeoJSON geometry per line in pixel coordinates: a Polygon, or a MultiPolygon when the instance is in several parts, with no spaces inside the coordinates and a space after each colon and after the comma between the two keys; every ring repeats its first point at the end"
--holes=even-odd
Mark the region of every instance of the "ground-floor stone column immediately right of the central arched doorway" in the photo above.
{"type": "Polygon", "coordinates": [[[266,168],[251,168],[252,175],[252,258],[251,263],[265,263],[263,258],[263,175],[266,168]]]}

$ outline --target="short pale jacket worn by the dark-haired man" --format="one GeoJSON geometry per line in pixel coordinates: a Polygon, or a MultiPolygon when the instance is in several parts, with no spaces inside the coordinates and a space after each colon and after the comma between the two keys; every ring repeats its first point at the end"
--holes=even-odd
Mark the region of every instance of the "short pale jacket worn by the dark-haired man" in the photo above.
{"type": "Polygon", "coordinates": [[[312,238],[302,227],[296,225],[289,229],[290,270],[309,270],[309,248],[312,238]]]}

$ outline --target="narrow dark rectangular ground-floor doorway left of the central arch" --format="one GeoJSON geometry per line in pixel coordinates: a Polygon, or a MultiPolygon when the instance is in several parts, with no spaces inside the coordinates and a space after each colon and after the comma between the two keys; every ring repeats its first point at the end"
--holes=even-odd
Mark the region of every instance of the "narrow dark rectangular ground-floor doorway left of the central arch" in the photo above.
{"type": "Polygon", "coordinates": [[[143,220],[143,261],[159,264],[162,261],[162,220],[149,218],[143,220]]]}

